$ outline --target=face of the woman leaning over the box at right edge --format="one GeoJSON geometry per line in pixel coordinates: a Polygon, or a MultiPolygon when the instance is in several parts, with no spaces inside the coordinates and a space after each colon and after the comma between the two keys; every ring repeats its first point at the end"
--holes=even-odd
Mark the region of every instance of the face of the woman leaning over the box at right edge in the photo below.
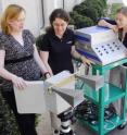
{"type": "Polygon", "coordinates": [[[117,23],[118,28],[127,27],[127,16],[124,15],[123,13],[117,13],[116,23],[117,23]]]}

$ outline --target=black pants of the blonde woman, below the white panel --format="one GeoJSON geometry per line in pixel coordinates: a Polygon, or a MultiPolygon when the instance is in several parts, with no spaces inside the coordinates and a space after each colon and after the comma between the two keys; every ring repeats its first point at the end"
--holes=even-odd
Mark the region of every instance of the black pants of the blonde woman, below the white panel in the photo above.
{"type": "Polygon", "coordinates": [[[37,135],[35,130],[35,114],[20,114],[17,112],[14,90],[2,91],[2,96],[14,112],[21,135],[37,135]]]}

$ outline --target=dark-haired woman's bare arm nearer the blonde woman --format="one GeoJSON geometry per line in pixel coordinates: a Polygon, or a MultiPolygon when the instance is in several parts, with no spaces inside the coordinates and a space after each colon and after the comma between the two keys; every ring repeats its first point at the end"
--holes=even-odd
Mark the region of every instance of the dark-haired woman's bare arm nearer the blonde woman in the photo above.
{"type": "Polygon", "coordinates": [[[48,71],[50,72],[51,75],[53,75],[52,70],[48,63],[48,59],[49,59],[49,51],[40,51],[40,58],[43,61],[46,68],[48,69],[48,71]]]}

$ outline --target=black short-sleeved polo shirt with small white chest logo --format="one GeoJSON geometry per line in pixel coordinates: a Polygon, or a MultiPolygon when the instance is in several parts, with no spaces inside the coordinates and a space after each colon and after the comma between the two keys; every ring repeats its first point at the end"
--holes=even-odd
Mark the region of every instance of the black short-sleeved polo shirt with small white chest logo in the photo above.
{"type": "Polygon", "coordinates": [[[55,36],[54,30],[50,29],[43,36],[40,41],[41,51],[49,51],[49,64],[53,74],[58,74],[64,70],[74,72],[72,63],[72,46],[74,46],[74,33],[71,29],[66,29],[63,38],[60,39],[55,36]]]}

